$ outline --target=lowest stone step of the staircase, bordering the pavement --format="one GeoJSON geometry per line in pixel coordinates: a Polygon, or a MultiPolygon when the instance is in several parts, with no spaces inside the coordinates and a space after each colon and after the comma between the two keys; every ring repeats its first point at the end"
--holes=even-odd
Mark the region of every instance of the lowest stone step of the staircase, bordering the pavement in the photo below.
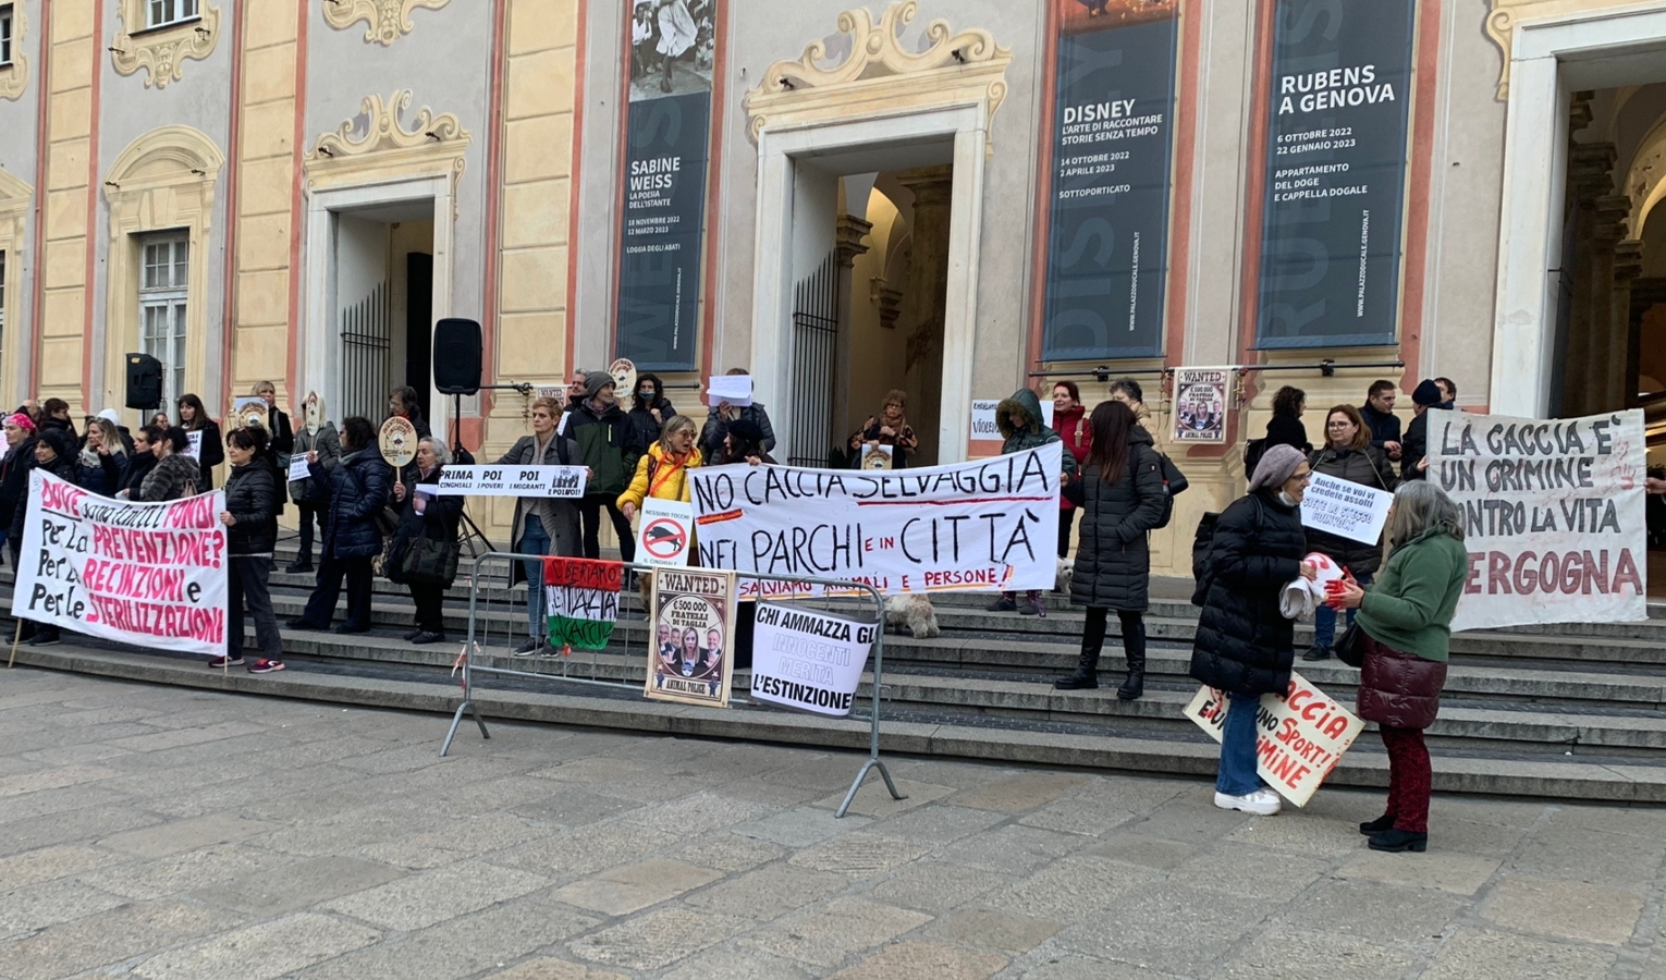
{"type": "MultiPolygon", "coordinates": [[[[297,662],[273,675],[203,668],[197,658],[112,652],[78,643],[18,652],[23,665],[100,677],[173,683],[200,690],[260,693],[328,703],[431,712],[433,747],[438,750],[448,717],[456,710],[455,680],[443,672],[400,675],[347,675],[297,662]]],[[[858,718],[820,718],[761,707],[731,710],[650,702],[641,697],[600,698],[548,688],[476,688],[476,707],[486,718],[630,728],[680,737],[781,742],[825,748],[866,750],[868,723],[858,718]]],[[[1201,738],[1201,735],[1200,735],[1201,738]]],[[[1388,783],[1388,760],[1361,740],[1329,777],[1333,785],[1376,787],[1388,783]]],[[[1213,778],[1220,750],[1208,740],[1126,737],[1088,732],[985,728],[965,723],[891,718],[881,713],[880,747],[886,753],[958,757],[1028,765],[1063,765],[1141,773],[1175,773],[1213,778]]],[[[491,742],[480,742],[473,725],[458,728],[453,755],[488,757],[491,742]]],[[[853,772],[861,757],[853,755],[853,772]]],[[[1561,755],[1434,755],[1434,788],[1448,793],[1526,795],[1619,803],[1666,803],[1666,767],[1636,760],[1594,760],[1561,755]]],[[[878,792],[873,787],[863,793],[878,792]]]]}

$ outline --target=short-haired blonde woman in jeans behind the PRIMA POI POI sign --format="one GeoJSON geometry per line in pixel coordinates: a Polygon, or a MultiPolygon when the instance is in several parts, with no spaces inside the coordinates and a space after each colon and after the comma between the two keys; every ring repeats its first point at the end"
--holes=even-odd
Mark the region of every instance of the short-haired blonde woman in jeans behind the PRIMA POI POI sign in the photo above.
{"type": "MultiPolygon", "coordinates": [[[[538,398],[531,403],[531,435],[515,440],[510,452],[498,458],[500,467],[573,467],[580,465],[578,442],[571,435],[555,432],[561,405],[555,398],[538,398]]],[[[571,430],[568,430],[571,432],[571,430]]],[[[583,532],[578,523],[578,505],[558,497],[518,497],[510,532],[510,550],[518,555],[561,555],[576,558],[585,553],[583,532]]],[[[530,638],[516,650],[516,657],[530,657],[548,645],[550,627],[543,612],[543,562],[523,560],[526,577],[526,625],[530,638]]]]}

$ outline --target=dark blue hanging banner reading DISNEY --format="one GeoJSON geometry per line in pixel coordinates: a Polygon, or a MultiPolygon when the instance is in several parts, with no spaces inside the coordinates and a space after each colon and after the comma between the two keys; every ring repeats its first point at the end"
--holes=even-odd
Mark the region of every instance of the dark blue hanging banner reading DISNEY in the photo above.
{"type": "Polygon", "coordinates": [[[1163,353],[1178,0],[1058,7],[1041,360],[1163,353]]]}

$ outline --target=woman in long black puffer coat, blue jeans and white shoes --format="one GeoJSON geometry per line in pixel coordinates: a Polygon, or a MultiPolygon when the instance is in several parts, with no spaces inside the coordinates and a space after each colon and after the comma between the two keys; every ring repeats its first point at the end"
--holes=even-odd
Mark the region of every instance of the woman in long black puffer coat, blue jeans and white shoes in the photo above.
{"type": "Polygon", "coordinates": [[[1298,577],[1318,570],[1304,562],[1301,497],[1308,460],[1291,445],[1261,457],[1250,490],[1215,523],[1215,537],[1198,590],[1203,612],[1191,647],[1191,677],[1226,692],[1230,708],[1221,732],[1221,768],[1215,805],[1271,817],[1278,793],[1256,775],[1256,713],[1261,695],[1283,695],[1296,660],[1294,623],[1279,610],[1278,595],[1298,577]]]}

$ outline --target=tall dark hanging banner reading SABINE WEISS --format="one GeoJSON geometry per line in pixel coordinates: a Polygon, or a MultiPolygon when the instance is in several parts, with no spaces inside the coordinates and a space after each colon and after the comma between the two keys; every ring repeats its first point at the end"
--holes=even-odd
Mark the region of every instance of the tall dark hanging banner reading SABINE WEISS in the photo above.
{"type": "Polygon", "coordinates": [[[695,370],[711,147],[713,0],[635,0],[616,357],[695,370]]]}

